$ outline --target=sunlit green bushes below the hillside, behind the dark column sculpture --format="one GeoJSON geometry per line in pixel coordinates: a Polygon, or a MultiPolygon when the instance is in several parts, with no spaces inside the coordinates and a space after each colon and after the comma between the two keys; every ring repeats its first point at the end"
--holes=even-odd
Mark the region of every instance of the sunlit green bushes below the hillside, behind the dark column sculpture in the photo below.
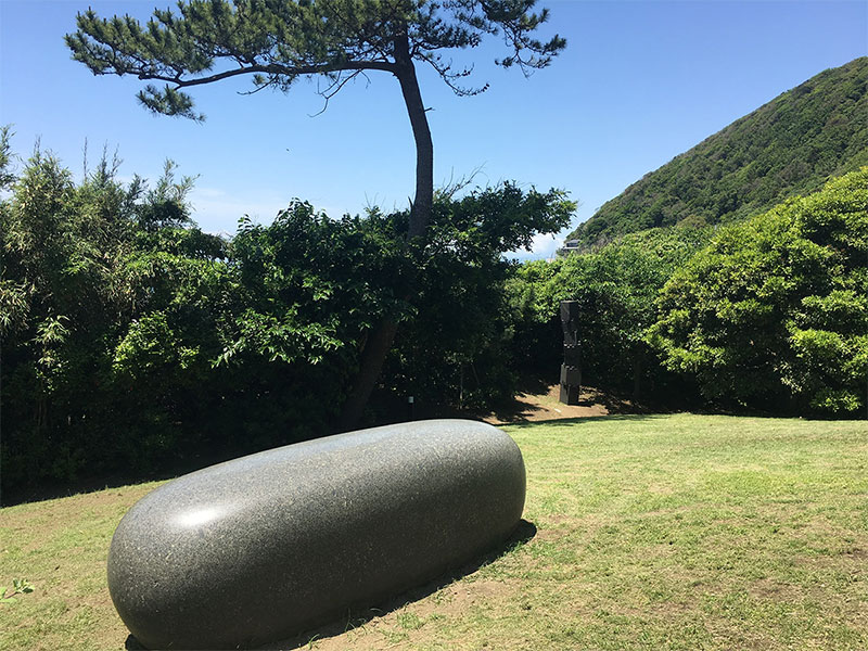
{"type": "Polygon", "coordinates": [[[860,416],[868,393],[868,167],[745,222],[625,235],[522,265],[514,359],[554,379],[579,304],[583,381],[642,400],[860,416]]]}

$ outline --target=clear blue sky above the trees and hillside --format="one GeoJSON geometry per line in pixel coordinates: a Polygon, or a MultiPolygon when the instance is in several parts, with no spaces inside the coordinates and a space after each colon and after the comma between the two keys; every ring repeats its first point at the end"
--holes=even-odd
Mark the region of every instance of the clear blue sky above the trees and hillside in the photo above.
{"type": "MultiPolygon", "coordinates": [[[[165,158],[199,175],[192,195],[205,230],[233,233],[244,214],[270,221],[294,196],[330,215],[407,205],[414,150],[397,81],[372,73],[328,111],[316,85],[289,94],[237,94],[248,81],[194,92],[204,124],[153,116],[132,78],[94,77],[69,59],[63,35],[91,5],[101,15],[146,18],[148,2],[0,0],[0,123],[29,154],[37,138],[76,174],[87,140],[119,149],[120,173],[156,179],[165,158]]],[[[159,7],[170,3],[163,0],[159,7]]],[[[567,39],[552,65],[525,79],[492,64],[499,42],[458,60],[476,62],[490,89],[458,98],[420,75],[435,148],[435,181],[481,168],[480,184],[512,179],[569,190],[573,226],[642,175],[808,77],[868,54],[868,2],[540,1],[544,36],[567,39]],[[469,58],[468,58],[469,56],[469,58]]],[[[561,233],[561,238],[565,233],[561,233]]],[[[534,257],[551,254],[540,239],[534,257]]]]}

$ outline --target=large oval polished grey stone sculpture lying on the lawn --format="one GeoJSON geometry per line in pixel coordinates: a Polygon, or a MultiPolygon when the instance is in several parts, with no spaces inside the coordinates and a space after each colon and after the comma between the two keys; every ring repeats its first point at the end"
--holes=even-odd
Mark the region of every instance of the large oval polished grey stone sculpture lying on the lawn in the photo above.
{"type": "Polygon", "coordinates": [[[506,539],[524,508],[500,430],[434,420],[184,475],[115,531],[108,589],[151,649],[247,649],[418,585],[506,539]]]}

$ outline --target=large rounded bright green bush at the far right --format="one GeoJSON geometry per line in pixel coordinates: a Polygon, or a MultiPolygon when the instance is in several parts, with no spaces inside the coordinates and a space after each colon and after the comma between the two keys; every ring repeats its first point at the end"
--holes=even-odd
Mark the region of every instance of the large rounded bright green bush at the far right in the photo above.
{"type": "Polygon", "coordinates": [[[649,341],[716,405],[855,413],[868,391],[868,167],[723,229],[649,341]]]}

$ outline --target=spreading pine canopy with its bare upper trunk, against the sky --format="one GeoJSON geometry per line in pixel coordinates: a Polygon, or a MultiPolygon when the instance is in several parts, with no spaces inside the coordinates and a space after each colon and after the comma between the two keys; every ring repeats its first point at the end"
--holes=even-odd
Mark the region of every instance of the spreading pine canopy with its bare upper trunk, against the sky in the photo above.
{"type": "Polygon", "coordinates": [[[251,75],[253,90],[289,91],[299,77],[321,75],[330,98],[348,80],[370,71],[393,74],[401,86],[417,141],[417,195],[409,234],[419,235],[431,217],[431,136],[413,62],[433,67],[459,94],[471,68],[455,68],[449,50],[475,48],[483,37],[503,37],[507,55],[497,60],[525,73],[545,67],[565,46],[554,36],[533,37],[548,11],[536,0],[191,0],[176,11],[155,10],[142,25],[130,16],[78,15],[66,36],[73,58],[94,75],[135,75],[148,85],[138,97],[156,113],[203,119],[186,89],[251,75]]]}

